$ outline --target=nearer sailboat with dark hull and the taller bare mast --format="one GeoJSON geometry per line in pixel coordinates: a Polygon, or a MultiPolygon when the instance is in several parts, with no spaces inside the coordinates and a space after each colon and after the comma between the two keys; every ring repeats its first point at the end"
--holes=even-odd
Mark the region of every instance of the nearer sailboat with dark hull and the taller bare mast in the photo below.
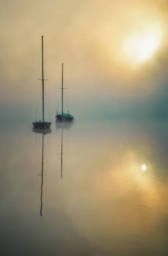
{"type": "Polygon", "coordinates": [[[42,36],[42,120],[33,122],[34,128],[46,129],[49,128],[51,122],[46,122],[44,118],[44,64],[43,64],[43,36],[42,36]]]}

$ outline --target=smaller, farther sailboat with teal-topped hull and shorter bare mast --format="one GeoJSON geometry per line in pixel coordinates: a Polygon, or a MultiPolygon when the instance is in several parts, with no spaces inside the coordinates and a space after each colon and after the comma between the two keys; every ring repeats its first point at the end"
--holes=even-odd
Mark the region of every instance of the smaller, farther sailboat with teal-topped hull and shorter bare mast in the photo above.
{"type": "Polygon", "coordinates": [[[68,113],[64,113],[63,111],[63,63],[62,63],[62,88],[59,88],[59,89],[62,89],[62,112],[58,112],[56,111],[56,121],[60,121],[60,122],[72,122],[74,120],[74,116],[72,116],[70,113],[69,113],[69,110],[68,110],[68,113]]]}

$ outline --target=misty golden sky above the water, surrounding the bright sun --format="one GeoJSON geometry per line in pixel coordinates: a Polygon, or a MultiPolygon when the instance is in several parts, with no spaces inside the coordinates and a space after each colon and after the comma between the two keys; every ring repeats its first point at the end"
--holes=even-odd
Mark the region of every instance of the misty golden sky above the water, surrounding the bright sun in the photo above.
{"type": "Polygon", "coordinates": [[[163,0],[1,1],[1,112],[25,107],[28,113],[28,106],[35,112],[42,35],[52,114],[62,62],[73,112],[107,110],[112,116],[126,106],[141,115],[147,108],[165,111],[167,10],[163,0]],[[123,42],[150,24],[162,32],[159,47],[148,61],[133,65],[123,42]]]}

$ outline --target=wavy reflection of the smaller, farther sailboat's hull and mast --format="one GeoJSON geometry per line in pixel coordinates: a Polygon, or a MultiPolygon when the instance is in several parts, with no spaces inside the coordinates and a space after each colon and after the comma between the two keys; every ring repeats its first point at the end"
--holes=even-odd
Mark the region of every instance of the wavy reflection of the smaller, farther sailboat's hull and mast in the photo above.
{"type": "Polygon", "coordinates": [[[69,129],[73,126],[73,122],[59,122],[56,120],[56,131],[57,129],[61,129],[61,178],[62,178],[62,162],[63,162],[63,130],[69,129]]]}

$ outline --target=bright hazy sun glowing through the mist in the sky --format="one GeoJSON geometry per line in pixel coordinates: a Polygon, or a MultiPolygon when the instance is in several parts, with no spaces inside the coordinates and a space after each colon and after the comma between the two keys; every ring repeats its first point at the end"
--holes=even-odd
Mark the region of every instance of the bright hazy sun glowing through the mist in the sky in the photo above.
{"type": "Polygon", "coordinates": [[[126,59],[133,65],[142,64],[153,57],[162,40],[162,29],[159,26],[146,27],[141,32],[134,32],[123,42],[126,59]]]}

